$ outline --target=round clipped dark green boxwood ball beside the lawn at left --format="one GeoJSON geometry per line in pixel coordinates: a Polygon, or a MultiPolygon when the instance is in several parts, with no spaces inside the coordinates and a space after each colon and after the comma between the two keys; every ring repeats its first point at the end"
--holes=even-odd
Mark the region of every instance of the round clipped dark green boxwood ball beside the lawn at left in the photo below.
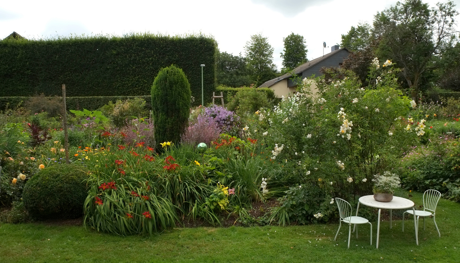
{"type": "Polygon", "coordinates": [[[57,164],[43,168],[24,187],[24,206],[38,219],[76,218],[83,214],[86,198],[85,168],[57,164]]]}

